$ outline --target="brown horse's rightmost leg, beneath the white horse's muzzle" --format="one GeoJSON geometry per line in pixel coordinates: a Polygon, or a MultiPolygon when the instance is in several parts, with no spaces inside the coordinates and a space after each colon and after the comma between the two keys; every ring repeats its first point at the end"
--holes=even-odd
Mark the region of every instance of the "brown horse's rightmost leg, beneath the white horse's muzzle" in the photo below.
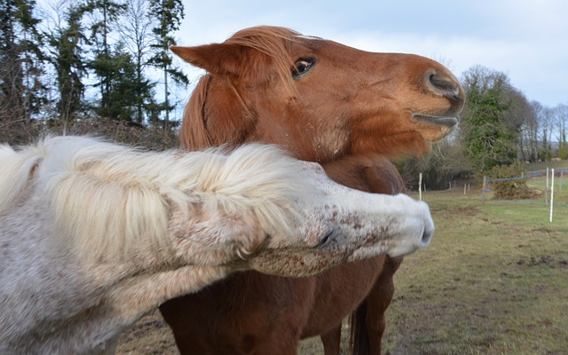
{"type": "Polygon", "coordinates": [[[376,280],[375,285],[367,296],[367,335],[368,353],[371,355],[381,354],[381,342],[386,327],[384,313],[389,308],[392,296],[394,296],[394,282],[392,277],[402,263],[402,256],[387,257],[381,276],[376,280]]]}

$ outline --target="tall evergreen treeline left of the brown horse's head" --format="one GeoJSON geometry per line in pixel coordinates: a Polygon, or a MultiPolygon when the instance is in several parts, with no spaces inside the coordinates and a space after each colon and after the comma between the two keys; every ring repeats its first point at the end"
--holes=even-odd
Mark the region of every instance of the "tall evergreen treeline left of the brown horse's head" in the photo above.
{"type": "Polygon", "coordinates": [[[2,141],[104,122],[169,132],[189,83],[168,50],[183,18],[180,0],[0,0],[2,141]]]}

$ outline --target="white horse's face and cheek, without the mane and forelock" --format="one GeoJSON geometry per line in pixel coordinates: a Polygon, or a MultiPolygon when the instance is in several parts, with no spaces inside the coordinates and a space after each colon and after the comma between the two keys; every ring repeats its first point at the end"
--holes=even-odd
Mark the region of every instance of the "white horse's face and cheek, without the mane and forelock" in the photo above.
{"type": "MultiPolygon", "coordinates": [[[[290,178],[304,179],[305,186],[280,196],[281,201],[288,199],[287,206],[272,216],[263,215],[270,206],[262,206],[262,200],[254,205],[261,216],[258,219],[252,217],[254,212],[243,217],[245,209],[240,209],[239,217],[218,214],[217,209],[216,217],[207,214],[190,222],[177,214],[171,229],[177,235],[179,250],[185,250],[181,254],[205,257],[198,264],[220,262],[298,277],[323,272],[344,261],[382,254],[403,256],[430,243],[434,225],[425,203],[404,194],[353,190],[330,180],[316,163],[293,163],[295,166],[283,171],[293,172],[290,178]],[[282,220],[276,222],[275,217],[282,220]]],[[[293,185],[288,184],[284,186],[293,185]]]]}

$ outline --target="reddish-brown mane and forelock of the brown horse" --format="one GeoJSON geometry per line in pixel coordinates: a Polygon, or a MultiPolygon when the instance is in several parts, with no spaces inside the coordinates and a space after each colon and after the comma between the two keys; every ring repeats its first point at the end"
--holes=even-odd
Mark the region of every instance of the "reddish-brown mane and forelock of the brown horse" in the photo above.
{"type": "MultiPolygon", "coordinates": [[[[276,75],[285,84],[286,90],[294,91],[290,75],[290,68],[294,65],[294,59],[289,54],[288,46],[295,41],[295,36],[300,36],[300,34],[289,28],[260,26],[242,29],[228,38],[225,43],[248,47],[271,58],[271,67],[275,68],[276,75]]],[[[257,64],[267,65],[266,60],[259,60],[257,64]]],[[[201,76],[200,81],[193,90],[189,103],[185,106],[184,121],[192,129],[179,132],[179,140],[184,149],[202,149],[214,145],[206,127],[204,113],[205,100],[207,99],[211,78],[212,75],[210,73],[201,76]]],[[[234,88],[231,80],[226,77],[223,80],[245,111],[248,111],[247,106],[241,99],[241,95],[234,88]]]]}

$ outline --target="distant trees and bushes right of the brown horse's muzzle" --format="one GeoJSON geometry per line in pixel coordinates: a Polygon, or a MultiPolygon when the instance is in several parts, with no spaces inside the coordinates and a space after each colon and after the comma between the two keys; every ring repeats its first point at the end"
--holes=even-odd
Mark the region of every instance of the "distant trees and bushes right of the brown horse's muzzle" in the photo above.
{"type": "Polygon", "coordinates": [[[458,129],[430,154],[398,162],[409,187],[417,187],[419,172],[427,188],[443,189],[456,179],[504,177],[505,166],[516,176],[519,163],[568,158],[568,105],[529,100],[508,75],[487,67],[469,68],[461,83],[467,101],[458,129]]]}

